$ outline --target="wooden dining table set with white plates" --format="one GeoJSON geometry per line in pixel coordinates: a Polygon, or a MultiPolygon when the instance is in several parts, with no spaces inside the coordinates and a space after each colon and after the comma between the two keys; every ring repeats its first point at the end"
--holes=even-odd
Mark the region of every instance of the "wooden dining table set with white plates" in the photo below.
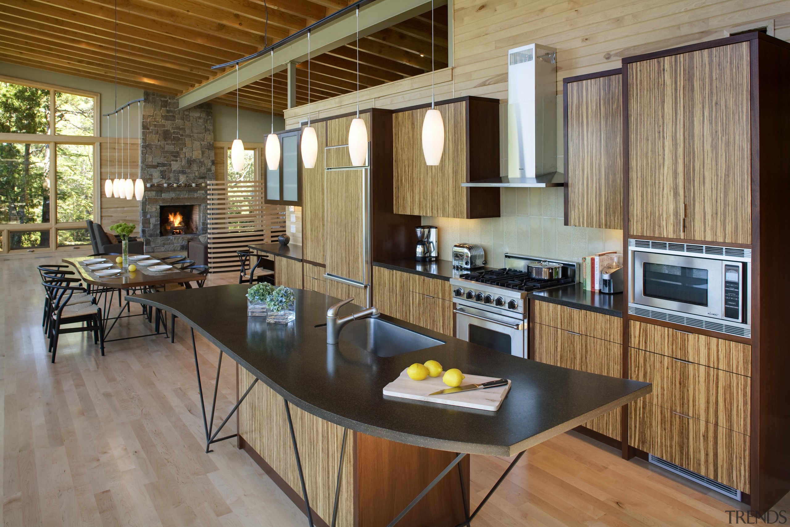
{"type": "MultiPolygon", "coordinates": [[[[146,265],[146,262],[157,260],[156,256],[149,256],[142,258],[143,254],[130,254],[130,264],[134,264],[136,269],[130,271],[124,268],[120,263],[115,262],[115,255],[102,257],[79,256],[73,258],[63,258],[62,262],[71,265],[76,269],[80,275],[80,279],[88,286],[88,292],[96,296],[96,303],[102,303],[102,329],[104,342],[112,341],[126,341],[133,338],[151,337],[153,335],[161,335],[163,332],[160,330],[164,328],[164,335],[167,336],[167,321],[162,311],[159,309],[151,310],[144,307],[141,314],[131,314],[131,307],[129,303],[129,296],[155,292],[157,288],[165,288],[167,284],[189,284],[190,282],[197,282],[205,280],[204,274],[190,273],[179,269],[178,262],[175,265],[170,265],[168,269],[160,271],[151,269],[155,265],[146,265]],[[102,259],[103,262],[96,262],[102,259]],[[95,262],[95,265],[101,265],[106,269],[91,269],[85,262],[95,262]],[[107,267],[107,265],[109,265],[107,267]],[[96,271],[118,271],[112,276],[100,276],[96,271]],[[110,314],[115,294],[118,294],[120,311],[112,317],[110,314]],[[126,298],[123,298],[123,294],[126,298]],[[122,303],[126,300],[126,303],[122,303]],[[127,314],[123,314],[126,311],[127,314]],[[144,333],[142,335],[133,335],[131,337],[119,337],[114,339],[107,339],[111,330],[115,328],[116,323],[121,318],[144,317],[148,322],[154,323],[153,333],[144,333]],[[153,321],[152,321],[153,318],[153,321]]],[[[155,262],[156,264],[164,264],[164,262],[155,262]]]]}

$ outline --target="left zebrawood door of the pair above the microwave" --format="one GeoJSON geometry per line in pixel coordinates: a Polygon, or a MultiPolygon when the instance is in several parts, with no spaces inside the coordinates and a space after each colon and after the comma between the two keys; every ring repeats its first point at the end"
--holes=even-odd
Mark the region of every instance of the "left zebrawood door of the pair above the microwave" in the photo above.
{"type": "Polygon", "coordinates": [[[684,55],[628,68],[628,232],[683,238],[684,55]]]}

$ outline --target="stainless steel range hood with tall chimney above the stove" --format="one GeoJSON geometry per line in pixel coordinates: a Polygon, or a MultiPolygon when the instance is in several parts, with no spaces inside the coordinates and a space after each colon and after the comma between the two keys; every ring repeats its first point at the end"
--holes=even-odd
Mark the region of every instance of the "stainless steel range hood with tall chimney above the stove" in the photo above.
{"type": "Polygon", "coordinates": [[[461,186],[564,186],[557,171],[556,50],[527,44],[508,52],[507,177],[461,186]]]}

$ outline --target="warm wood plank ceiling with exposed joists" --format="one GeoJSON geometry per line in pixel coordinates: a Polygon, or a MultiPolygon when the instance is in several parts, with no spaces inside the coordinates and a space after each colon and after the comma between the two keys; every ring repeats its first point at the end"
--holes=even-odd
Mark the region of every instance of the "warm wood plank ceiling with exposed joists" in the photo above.
{"type": "MultiPolygon", "coordinates": [[[[251,55],[347,6],[347,0],[119,0],[118,82],[181,95],[251,55]]],[[[0,61],[106,82],[115,79],[115,0],[0,0],[0,61]]],[[[435,67],[447,66],[447,8],[434,9],[435,67]]],[[[310,100],[356,89],[356,43],[310,60],[310,100]]],[[[431,71],[431,13],[359,40],[359,88],[431,71]]],[[[307,62],[296,103],[307,104],[307,62]]],[[[274,75],[275,113],[287,107],[288,74],[274,75]]],[[[243,86],[239,106],[272,110],[271,78],[243,86]]],[[[235,106],[235,92],[212,102],[235,106]]]]}

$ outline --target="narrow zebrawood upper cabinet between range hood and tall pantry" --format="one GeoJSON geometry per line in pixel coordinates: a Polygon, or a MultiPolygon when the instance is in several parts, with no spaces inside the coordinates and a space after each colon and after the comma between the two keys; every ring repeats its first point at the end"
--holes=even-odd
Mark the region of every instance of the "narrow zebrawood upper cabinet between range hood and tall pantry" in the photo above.
{"type": "Polygon", "coordinates": [[[562,79],[565,224],[623,228],[620,70],[562,79]]]}

